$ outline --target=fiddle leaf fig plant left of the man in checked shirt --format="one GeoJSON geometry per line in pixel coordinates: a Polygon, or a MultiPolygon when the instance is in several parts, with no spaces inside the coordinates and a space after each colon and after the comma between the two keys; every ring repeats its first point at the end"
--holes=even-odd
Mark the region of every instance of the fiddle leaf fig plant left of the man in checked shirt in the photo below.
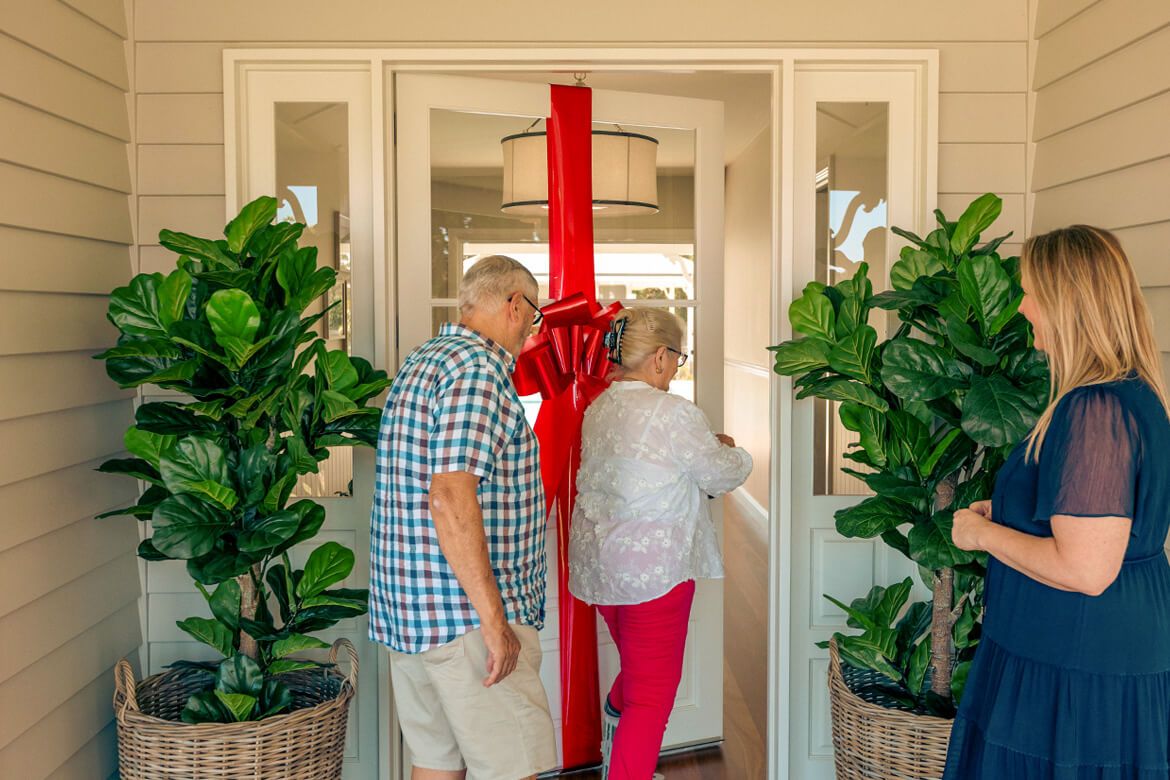
{"type": "Polygon", "coordinates": [[[142,403],[125,434],[131,457],[101,471],[146,484],[131,515],[149,522],[139,557],[186,561],[211,617],[178,622],[223,656],[180,662],[207,686],[183,711],[188,723],[253,720],[288,711],[282,675],[311,669],[295,657],[329,647],[312,636],[365,614],[367,592],[338,587],[353,553],[325,543],[292,566],[325,511],[292,501],[297,479],[318,471],[331,447],[372,447],[390,386],[383,371],[328,350],[307,315],[336,275],[298,247],[303,225],[274,223],[276,199],[245,206],[211,240],[163,230],[178,255],[167,275],[139,274],[113,290],[108,317],[117,344],[96,356],[121,387],[157,385],[184,400],[142,403]]]}

